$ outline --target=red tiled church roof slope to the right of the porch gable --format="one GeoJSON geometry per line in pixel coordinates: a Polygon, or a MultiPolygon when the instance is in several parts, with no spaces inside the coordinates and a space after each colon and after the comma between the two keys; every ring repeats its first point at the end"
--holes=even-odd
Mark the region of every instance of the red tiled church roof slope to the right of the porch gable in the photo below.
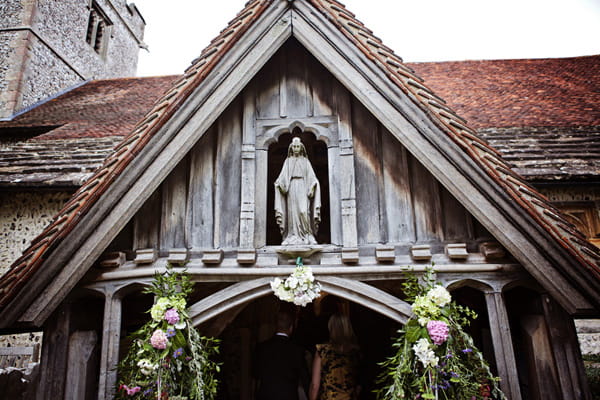
{"type": "Polygon", "coordinates": [[[407,65],[477,130],[600,125],[600,55],[407,65]]]}

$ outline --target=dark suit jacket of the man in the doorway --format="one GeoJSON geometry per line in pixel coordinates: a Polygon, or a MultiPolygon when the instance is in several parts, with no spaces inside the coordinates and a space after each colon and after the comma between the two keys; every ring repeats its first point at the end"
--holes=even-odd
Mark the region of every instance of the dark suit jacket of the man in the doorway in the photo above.
{"type": "Polygon", "coordinates": [[[254,358],[256,400],[297,400],[298,385],[308,393],[304,350],[286,336],[260,343],[254,358]]]}

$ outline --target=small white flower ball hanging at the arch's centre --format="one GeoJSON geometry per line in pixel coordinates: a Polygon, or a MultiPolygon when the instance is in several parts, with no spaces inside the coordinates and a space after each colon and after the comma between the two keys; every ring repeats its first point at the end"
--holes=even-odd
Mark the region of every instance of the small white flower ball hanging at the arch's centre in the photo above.
{"type": "Polygon", "coordinates": [[[321,294],[321,285],[315,282],[312,269],[302,264],[302,257],[296,259],[296,268],[289,277],[271,281],[271,289],[280,300],[302,307],[321,294]]]}

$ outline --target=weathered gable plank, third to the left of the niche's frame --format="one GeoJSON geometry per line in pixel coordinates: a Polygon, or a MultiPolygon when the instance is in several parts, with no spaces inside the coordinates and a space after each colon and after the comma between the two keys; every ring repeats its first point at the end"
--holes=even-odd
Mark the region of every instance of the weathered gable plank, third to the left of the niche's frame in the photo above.
{"type": "Polygon", "coordinates": [[[185,214],[188,186],[188,157],[184,158],[161,185],[162,216],[160,248],[169,250],[186,247],[185,214]]]}

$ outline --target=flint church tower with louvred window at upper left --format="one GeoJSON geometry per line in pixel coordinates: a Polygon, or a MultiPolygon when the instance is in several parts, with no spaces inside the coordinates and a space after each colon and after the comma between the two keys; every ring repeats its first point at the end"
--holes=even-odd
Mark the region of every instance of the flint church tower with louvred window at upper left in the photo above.
{"type": "Polygon", "coordinates": [[[0,119],[90,79],[133,76],[144,28],[126,0],[3,0],[0,119]]]}

